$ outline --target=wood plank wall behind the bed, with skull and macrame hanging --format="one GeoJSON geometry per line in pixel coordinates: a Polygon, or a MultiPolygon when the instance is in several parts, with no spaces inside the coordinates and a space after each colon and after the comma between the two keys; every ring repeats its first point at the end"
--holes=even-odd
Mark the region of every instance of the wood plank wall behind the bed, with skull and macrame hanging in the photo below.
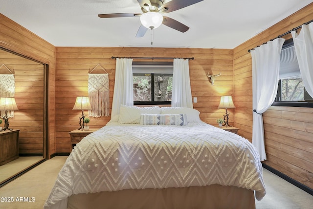
{"type": "MultiPolygon", "coordinates": [[[[70,152],[69,131],[79,127],[81,111],[72,110],[76,96],[88,96],[88,71],[98,63],[109,75],[110,108],[115,80],[115,63],[112,56],[120,57],[194,57],[189,61],[192,96],[198,98],[194,108],[201,119],[216,124],[223,117],[218,109],[221,95],[233,95],[233,50],[201,48],[139,48],[139,47],[56,47],[56,152],[70,152]],[[207,73],[218,74],[211,86],[207,73]]],[[[152,61],[152,60],[134,60],[152,61]]],[[[167,61],[155,59],[154,62],[167,61]]],[[[85,111],[86,112],[86,111],[85,111]]],[[[230,110],[233,122],[233,111],[230,110]]],[[[90,118],[89,126],[100,128],[110,117],[90,118]]]]}

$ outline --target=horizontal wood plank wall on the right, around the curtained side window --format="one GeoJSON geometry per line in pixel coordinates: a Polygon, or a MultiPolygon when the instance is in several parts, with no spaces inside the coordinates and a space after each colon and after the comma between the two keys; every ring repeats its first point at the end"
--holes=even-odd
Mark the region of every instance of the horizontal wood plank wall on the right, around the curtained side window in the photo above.
{"type": "MultiPolygon", "coordinates": [[[[313,3],[234,48],[235,126],[252,138],[252,67],[248,49],[313,19],[313,3]]],[[[283,37],[291,38],[290,35],[283,37]]],[[[313,188],[313,108],[271,107],[264,115],[264,163],[313,188]]]]}

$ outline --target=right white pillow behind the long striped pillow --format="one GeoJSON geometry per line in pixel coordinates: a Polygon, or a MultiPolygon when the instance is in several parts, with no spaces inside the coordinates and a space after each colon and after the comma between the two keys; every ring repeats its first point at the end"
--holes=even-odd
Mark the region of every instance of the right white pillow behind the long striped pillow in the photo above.
{"type": "Polygon", "coordinates": [[[186,114],[187,123],[200,120],[200,112],[187,107],[161,107],[161,114],[186,114]]]}

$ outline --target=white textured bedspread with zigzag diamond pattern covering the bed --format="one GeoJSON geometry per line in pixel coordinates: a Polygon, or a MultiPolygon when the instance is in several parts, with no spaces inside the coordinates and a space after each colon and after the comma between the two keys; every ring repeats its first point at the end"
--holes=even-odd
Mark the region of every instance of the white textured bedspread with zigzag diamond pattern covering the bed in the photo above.
{"type": "Polygon", "coordinates": [[[254,146],[204,122],[109,123],[82,139],[61,169],[45,209],[66,209],[72,194],[219,184],[266,194],[254,146]]]}

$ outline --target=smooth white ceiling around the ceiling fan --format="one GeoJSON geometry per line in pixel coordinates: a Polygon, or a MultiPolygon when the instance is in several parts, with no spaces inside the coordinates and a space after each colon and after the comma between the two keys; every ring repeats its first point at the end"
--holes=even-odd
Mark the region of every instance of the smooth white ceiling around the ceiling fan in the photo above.
{"type": "MultiPolygon", "coordinates": [[[[0,0],[0,13],[54,46],[140,46],[234,48],[313,0],[203,0],[166,16],[190,29],[165,25],[135,38],[138,17],[98,14],[141,13],[137,0],[0,0]]],[[[292,29],[292,28],[290,28],[292,29]]]]}

